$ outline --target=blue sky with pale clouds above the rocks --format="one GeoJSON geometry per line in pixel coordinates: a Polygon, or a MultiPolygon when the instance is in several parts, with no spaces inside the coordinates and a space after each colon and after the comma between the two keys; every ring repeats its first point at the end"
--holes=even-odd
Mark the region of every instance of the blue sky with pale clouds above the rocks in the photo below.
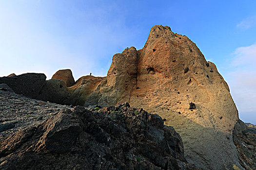
{"type": "Polygon", "coordinates": [[[255,0],[0,0],[0,76],[105,76],[115,53],[168,25],[217,65],[240,119],[256,124],[255,9],[255,0]]]}

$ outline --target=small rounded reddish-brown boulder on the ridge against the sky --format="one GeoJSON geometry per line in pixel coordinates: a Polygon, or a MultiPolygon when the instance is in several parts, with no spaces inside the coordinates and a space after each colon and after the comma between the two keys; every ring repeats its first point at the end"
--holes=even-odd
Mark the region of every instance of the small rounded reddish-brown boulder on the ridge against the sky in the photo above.
{"type": "Polygon", "coordinates": [[[63,80],[66,82],[67,87],[75,84],[75,80],[70,69],[60,69],[53,75],[52,79],[63,80]]]}

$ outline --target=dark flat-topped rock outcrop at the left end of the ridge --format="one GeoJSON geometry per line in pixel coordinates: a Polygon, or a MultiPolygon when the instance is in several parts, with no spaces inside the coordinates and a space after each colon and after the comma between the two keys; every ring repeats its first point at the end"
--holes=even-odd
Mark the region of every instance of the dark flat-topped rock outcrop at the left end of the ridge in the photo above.
{"type": "Polygon", "coordinates": [[[45,80],[44,74],[26,73],[18,76],[0,77],[0,84],[7,84],[17,94],[37,98],[45,80]]]}

